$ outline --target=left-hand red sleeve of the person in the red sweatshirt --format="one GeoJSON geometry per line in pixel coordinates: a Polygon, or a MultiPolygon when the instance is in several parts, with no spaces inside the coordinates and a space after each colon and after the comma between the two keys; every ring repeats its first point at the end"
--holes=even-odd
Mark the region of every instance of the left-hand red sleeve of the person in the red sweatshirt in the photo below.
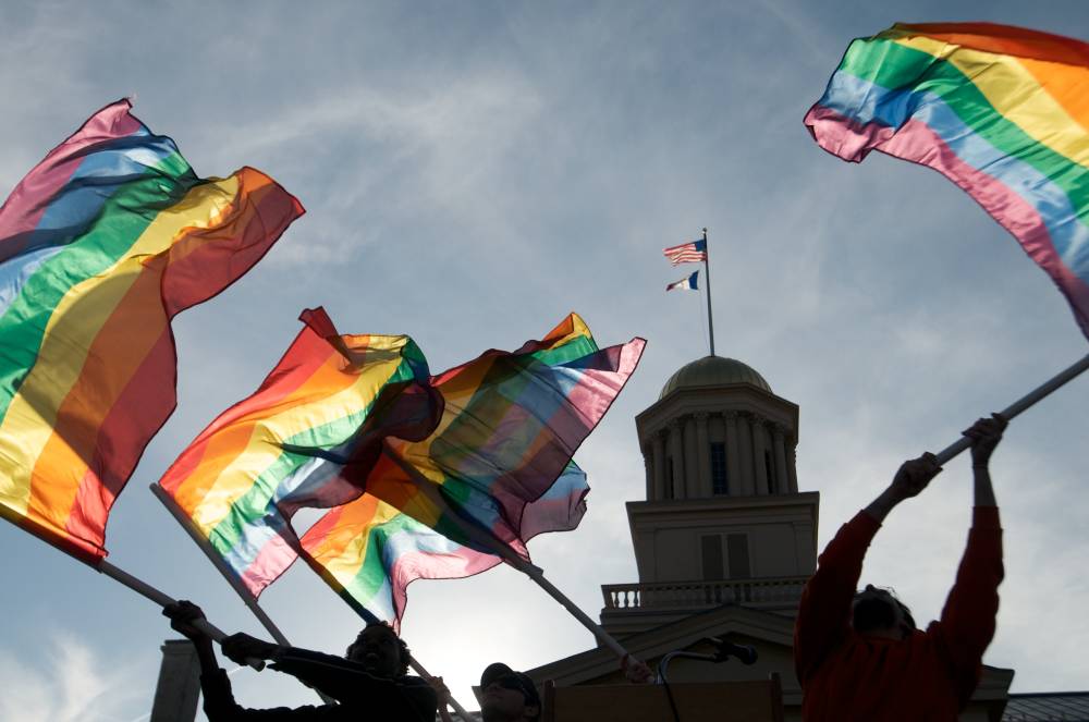
{"type": "Polygon", "coordinates": [[[862,573],[862,559],[881,524],[859,512],[829,542],[806,584],[794,624],[794,666],[806,680],[851,629],[851,603],[862,573]]]}

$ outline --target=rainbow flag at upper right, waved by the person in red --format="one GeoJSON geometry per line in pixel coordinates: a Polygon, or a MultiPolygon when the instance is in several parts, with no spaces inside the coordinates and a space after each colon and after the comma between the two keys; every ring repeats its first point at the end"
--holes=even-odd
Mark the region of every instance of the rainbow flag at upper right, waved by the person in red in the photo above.
{"type": "Polygon", "coordinates": [[[847,48],[805,119],[823,149],[928,166],[1010,231],[1089,335],[1089,45],[988,23],[894,25],[847,48]]]}

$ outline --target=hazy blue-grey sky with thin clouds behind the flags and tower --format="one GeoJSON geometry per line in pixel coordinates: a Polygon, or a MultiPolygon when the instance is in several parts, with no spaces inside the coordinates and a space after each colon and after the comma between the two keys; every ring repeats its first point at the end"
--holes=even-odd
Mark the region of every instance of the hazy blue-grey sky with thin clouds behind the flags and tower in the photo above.
{"type": "MultiPolygon", "coordinates": [[[[664,293],[695,267],[661,255],[703,227],[715,350],[800,406],[798,482],[821,494],[823,546],[904,458],[1087,353],[1050,280],[970,198],[877,154],[841,162],[802,124],[852,38],[966,20],[1089,38],[1080,0],[3,3],[2,195],[129,96],[200,175],[253,166],[308,210],[234,286],[175,319],[178,411],[114,506],[110,561],[262,635],[148,486],[258,386],[298,313],[323,305],[342,332],[407,333],[443,369],[576,310],[601,345],[648,340],[576,455],[592,488],[582,526],[530,544],[597,616],[602,584],[637,580],[634,416],[707,354],[702,295],[664,293]]],[[[1087,408],[1081,378],[1015,419],[992,462],[1006,580],[984,662],[1014,668],[1015,692],[1089,688],[1087,408]]],[[[890,516],[862,583],[937,616],[970,504],[963,456],[890,516]]],[[[146,719],[173,637],[159,610],[14,526],[0,544],[0,719],[146,719]]],[[[302,566],[262,605],[302,647],[340,653],[360,626],[302,566]]],[[[509,568],[413,585],[403,636],[469,708],[488,663],[528,669],[594,645],[509,568]]],[[[274,672],[232,680],[248,706],[316,699],[274,672]]]]}

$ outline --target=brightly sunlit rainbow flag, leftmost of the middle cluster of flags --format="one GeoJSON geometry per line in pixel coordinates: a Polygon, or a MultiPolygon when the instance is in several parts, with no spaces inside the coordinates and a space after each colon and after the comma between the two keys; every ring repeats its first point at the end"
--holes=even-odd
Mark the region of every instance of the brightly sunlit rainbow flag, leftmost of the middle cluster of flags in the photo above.
{"type": "MultiPolygon", "coordinates": [[[[376,419],[390,426],[391,400],[428,379],[408,336],[341,336],[320,308],[302,320],[306,326],[257,392],[212,421],[159,481],[255,597],[297,555],[289,524],[295,511],[360,493],[326,473],[321,458],[284,444],[317,450],[355,442],[376,419]]],[[[433,413],[415,421],[423,436],[435,426],[433,413]]]]}

